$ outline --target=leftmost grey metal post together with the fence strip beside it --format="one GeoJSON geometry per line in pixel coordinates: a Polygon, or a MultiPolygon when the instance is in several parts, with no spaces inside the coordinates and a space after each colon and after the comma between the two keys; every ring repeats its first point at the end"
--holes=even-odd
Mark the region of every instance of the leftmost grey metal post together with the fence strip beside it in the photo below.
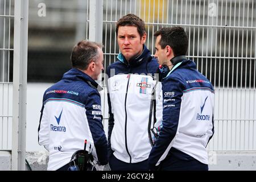
{"type": "Polygon", "coordinates": [[[0,0],[0,24],[0,147],[11,150],[12,170],[24,170],[28,0],[0,0]]]}

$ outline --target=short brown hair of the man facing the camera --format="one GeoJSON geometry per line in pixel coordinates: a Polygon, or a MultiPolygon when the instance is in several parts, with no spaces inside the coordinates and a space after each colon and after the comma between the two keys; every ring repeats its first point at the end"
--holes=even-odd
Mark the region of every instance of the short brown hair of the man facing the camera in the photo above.
{"type": "Polygon", "coordinates": [[[115,33],[118,34],[118,28],[119,26],[134,26],[137,27],[137,31],[139,32],[139,35],[143,36],[143,34],[146,33],[145,23],[144,21],[139,18],[139,16],[134,14],[127,14],[120,18],[117,21],[117,24],[115,26],[115,33]]]}

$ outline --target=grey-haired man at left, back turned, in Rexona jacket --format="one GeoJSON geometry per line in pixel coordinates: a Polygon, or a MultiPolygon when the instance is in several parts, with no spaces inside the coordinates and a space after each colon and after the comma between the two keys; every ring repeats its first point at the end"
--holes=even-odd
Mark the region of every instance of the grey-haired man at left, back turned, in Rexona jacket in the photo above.
{"type": "Polygon", "coordinates": [[[48,170],[67,170],[78,150],[92,152],[99,165],[108,163],[101,88],[95,81],[104,70],[101,48],[87,40],[77,43],[71,54],[73,68],[44,92],[38,142],[49,151],[48,170]]]}

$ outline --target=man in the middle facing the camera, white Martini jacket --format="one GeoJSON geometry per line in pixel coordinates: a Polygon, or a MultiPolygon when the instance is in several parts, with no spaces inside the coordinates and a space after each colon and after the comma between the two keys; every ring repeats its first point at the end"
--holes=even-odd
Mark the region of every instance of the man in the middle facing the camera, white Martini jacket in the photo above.
{"type": "Polygon", "coordinates": [[[156,111],[153,98],[156,95],[157,100],[162,99],[154,94],[158,91],[153,77],[158,63],[144,45],[147,34],[141,18],[123,16],[115,32],[121,53],[107,69],[109,165],[112,170],[148,170],[150,129],[162,113],[156,111]]]}

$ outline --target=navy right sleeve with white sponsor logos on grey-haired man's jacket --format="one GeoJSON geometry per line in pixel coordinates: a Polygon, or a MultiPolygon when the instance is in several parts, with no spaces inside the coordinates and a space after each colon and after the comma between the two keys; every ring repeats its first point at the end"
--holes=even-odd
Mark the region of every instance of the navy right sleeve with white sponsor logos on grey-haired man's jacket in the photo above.
{"type": "Polygon", "coordinates": [[[100,162],[101,165],[108,164],[107,140],[102,125],[101,99],[98,92],[89,94],[85,103],[85,109],[94,147],[96,148],[98,162],[100,162]]]}

